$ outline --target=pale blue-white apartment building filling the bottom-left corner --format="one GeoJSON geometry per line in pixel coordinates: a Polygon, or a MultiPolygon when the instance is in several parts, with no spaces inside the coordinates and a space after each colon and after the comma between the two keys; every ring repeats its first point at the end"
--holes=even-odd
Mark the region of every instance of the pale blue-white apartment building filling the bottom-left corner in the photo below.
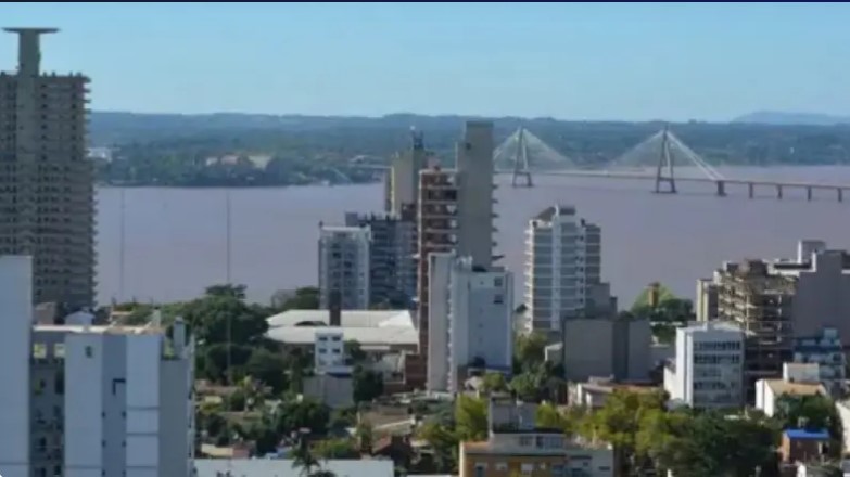
{"type": "Polygon", "coordinates": [[[189,477],[194,344],[156,325],[33,326],[29,257],[0,257],[4,477],[189,477]]]}

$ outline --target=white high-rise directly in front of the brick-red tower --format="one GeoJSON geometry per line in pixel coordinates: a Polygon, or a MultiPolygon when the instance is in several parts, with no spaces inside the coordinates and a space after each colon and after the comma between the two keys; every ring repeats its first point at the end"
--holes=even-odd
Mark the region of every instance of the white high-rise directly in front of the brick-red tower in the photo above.
{"type": "Polygon", "coordinates": [[[429,255],[428,389],[458,390],[468,368],[509,372],[513,280],[454,253],[429,255]]]}

